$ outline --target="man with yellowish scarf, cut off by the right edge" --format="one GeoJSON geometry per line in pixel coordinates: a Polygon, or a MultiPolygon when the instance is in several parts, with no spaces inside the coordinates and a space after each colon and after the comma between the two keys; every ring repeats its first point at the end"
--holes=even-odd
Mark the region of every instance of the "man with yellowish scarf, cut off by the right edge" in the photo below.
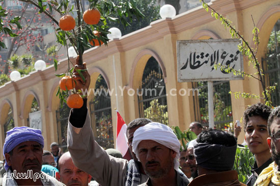
{"type": "Polygon", "coordinates": [[[267,143],[274,162],[261,172],[255,185],[280,185],[280,106],[270,114],[267,128],[267,143]]]}

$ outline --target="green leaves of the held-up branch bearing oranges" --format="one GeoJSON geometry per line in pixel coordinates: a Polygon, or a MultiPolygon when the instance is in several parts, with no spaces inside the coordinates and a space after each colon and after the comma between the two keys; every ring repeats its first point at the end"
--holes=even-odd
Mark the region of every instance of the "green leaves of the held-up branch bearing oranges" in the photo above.
{"type": "MultiPolygon", "coordinates": [[[[70,66],[71,61],[68,55],[69,42],[71,46],[74,46],[76,53],[79,55],[78,64],[82,65],[83,52],[93,47],[90,44],[90,41],[92,41],[93,39],[97,39],[99,44],[100,41],[102,41],[105,46],[107,45],[107,34],[109,33],[109,26],[107,25],[107,21],[116,21],[126,27],[129,25],[129,21],[133,21],[133,18],[139,20],[144,17],[144,15],[136,8],[136,2],[134,0],[120,0],[116,3],[107,0],[88,0],[89,9],[97,9],[101,14],[100,21],[96,25],[89,25],[83,21],[82,14],[84,11],[86,11],[83,8],[83,1],[75,0],[74,6],[69,5],[69,0],[53,0],[50,2],[47,2],[45,0],[39,0],[38,2],[33,0],[21,1],[32,4],[35,7],[39,8],[40,13],[44,13],[45,15],[47,15],[53,21],[53,23],[57,25],[59,25],[59,21],[55,19],[55,16],[53,16],[54,13],[60,14],[59,17],[62,17],[64,15],[76,15],[76,17],[74,16],[76,21],[76,27],[74,29],[64,31],[61,30],[61,28],[58,28],[56,30],[57,32],[55,33],[57,36],[57,43],[66,46],[67,48],[68,69],[64,74],[67,74],[71,77],[73,76],[73,71],[71,71],[72,66],[70,66]],[[93,31],[95,30],[100,33],[99,36],[93,34],[93,31]]],[[[50,51],[53,51],[53,48],[50,49],[50,51]]],[[[53,63],[55,70],[57,70],[58,60],[54,58],[53,63]]],[[[75,70],[81,76],[81,70],[75,70]]],[[[81,76],[81,78],[85,80],[83,76],[81,76]]],[[[61,93],[59,89],[57,96],[60,97],[61,101],[65,101],[67,93],[61,93]]]]}

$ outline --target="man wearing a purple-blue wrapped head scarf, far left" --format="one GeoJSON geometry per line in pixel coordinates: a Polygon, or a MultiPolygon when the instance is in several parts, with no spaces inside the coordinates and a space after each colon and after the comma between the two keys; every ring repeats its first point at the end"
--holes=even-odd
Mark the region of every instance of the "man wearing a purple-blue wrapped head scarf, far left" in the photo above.
{"type": "Polygon", "coordinates": [[[7,132],[3,185],[64,185],[41,172],[44,137],[41,130],[15,127],[7,132]]]}

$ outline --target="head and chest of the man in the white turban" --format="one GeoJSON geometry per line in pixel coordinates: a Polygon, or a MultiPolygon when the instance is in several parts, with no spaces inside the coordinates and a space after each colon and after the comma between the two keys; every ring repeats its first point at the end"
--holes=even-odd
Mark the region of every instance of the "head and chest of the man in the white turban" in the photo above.
{"type": "Polygon", "coordinates": [[[188,179],[178,173],[180,142],[170,127],[152,122],[138,128],[132,148],[149,176],[142,186],[188,185],[188,179]]]}

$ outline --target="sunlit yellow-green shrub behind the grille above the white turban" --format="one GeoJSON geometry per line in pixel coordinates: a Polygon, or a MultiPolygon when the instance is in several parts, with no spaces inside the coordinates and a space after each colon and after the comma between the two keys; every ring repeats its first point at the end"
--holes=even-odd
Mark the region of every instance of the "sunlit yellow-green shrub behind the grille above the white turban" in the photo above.
{"type": "Polygon", "coordinates": [[[150,102],[150,106],[144,110],[145,118],[149,118],[154,122],[159,122],[164,125],[168,124],[168,113],[165,111],[167,105],[161,105],[158,99],[154,99],[150,102]]]}

